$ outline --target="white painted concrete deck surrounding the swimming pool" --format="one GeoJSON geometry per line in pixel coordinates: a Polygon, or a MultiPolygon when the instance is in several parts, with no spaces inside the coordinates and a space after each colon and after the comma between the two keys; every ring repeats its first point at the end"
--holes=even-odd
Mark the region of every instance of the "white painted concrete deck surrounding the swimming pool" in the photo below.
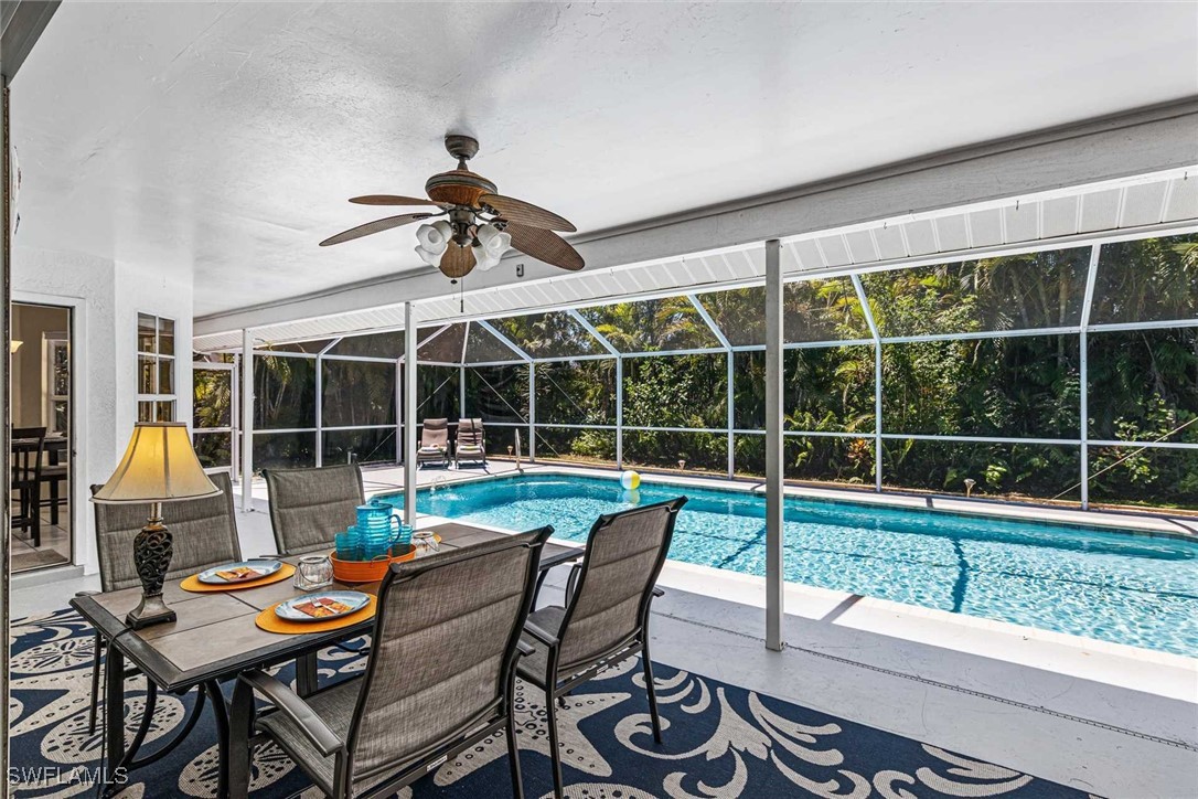
{"type": "MultiPolygon", "coordinates": [[[[612,477],[528,465],[530,473],[612,477]]],[[[514,465],[494,461],[490,476],[514,465]]],[[[403,488],[398,468],[365,470],[368,494],[403,488]]],[[[422,470],[419,485],[482,470],[422,470]]],[[[760,490],[760,483],[652,476],[679,486],[760,490]]],[[[246,552],[271,551],[265,485],[238,515],[246,552]]],[[[1083,513],[902,495],[789,488],[787,494],[1064,523],[1194,534],[1194,520],[1083,513]]],[[[437,523],[420,516],[418,527],[437,523]]],[[[562,541],[570,544],[570,541],[562,541]]],[[[565,569],[547,583],[559,597],[565,569]]],[[[12,594],[13,617],[65,606],[95,577],[12,594]]],[[[1093,641],[836,591],[786,583],[783,652],[764,647],[764,580],[667,562],[654,604],[653,656],[672,666],[918,738],[1102,797],[1198,795],[1198,659],[1093,641]]]]}

